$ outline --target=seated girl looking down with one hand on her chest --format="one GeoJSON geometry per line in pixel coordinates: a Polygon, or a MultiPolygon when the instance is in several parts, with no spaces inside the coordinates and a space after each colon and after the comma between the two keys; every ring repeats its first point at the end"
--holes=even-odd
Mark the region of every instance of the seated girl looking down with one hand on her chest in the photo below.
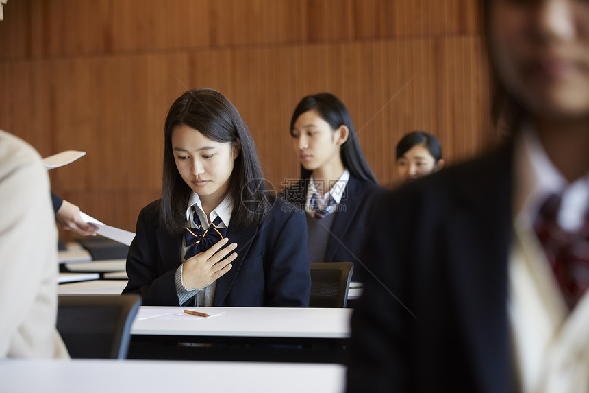
{"type": "Polygon", "coordinates": [[[308,306],[305,217],[263,178],[233,104],[182,94],[164,128],[162,198],[139,214],[123,293],[144,305],[308,306]]]}

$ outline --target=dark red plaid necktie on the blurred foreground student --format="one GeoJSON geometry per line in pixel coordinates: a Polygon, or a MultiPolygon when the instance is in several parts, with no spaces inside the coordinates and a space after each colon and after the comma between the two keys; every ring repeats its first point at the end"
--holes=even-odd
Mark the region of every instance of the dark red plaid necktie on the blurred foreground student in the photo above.
{"type": "Polygon", "coordinates": [[[557,222],[560,195],[551,195],[540,208],[534,229],[569,309],[589,288],[589,214],[577,233],[568,233],[557,222]]]}

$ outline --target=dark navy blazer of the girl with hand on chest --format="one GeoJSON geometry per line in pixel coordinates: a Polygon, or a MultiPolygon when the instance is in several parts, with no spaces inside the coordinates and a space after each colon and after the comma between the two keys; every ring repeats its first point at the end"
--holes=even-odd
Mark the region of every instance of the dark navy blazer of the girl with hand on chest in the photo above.
{"type": "MultiPolygon", "coordinates": [[[[179,305],[175,272],[181,265],[182,235],[159,225],[160,200],[145,206],[129,248],[125,293],[143,297],[143,305],[179,305]]],[[[305,214],[277,198],[259,226],[227,230],[238,257],[218,278],[214,306],[308,307],[311,287],[305,214]]]]}

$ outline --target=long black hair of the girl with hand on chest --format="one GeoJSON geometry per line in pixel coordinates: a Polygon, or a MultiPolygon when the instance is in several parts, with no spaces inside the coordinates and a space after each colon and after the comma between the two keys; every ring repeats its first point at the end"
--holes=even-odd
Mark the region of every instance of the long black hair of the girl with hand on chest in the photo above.
{"type": "Polygon", "coordinates": [[[268,187],[255,151],[255,143],[233,104],[218,91],[199,88],[186,91],[172,104],[164,126],[164,178],[160,222],[168,233],[179,233],[186,224],[186,209],[192,189],[184,182],[172,152],[172,132],[186,125],[208,139],[239,148],[229,179],[227,195],[233,202],[231,226],[247,228],[260,224],[268,214],[268,187]],[[264,209],[262,209],[264,207],[264,209]]]}

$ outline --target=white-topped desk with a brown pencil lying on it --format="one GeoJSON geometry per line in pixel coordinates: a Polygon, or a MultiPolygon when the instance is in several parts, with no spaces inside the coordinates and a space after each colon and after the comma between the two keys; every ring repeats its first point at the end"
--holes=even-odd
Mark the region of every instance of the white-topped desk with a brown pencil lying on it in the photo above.
{"type": "Polygon", "coordinates": [[[131,326],[129,357],[343,363],[352,312],[286,307],[141,307],[131,326]],[[211,316],[188,315],[184,309],[211,316]]]}

